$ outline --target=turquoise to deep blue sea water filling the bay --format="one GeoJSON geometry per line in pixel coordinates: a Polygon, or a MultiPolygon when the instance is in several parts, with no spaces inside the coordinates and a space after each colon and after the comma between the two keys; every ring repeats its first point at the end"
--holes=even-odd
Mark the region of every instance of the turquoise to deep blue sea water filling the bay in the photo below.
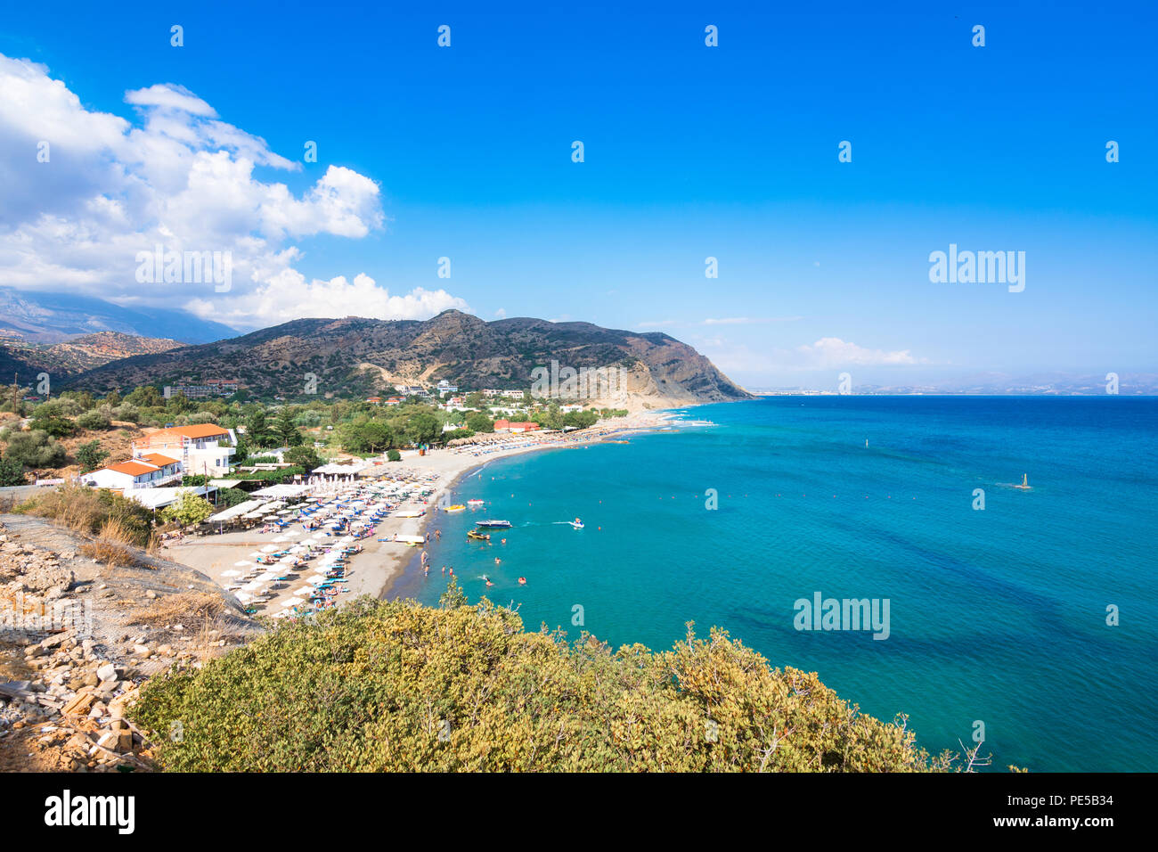
{"type": "Polygon", "coordinates": [[[490,463],[457,494],[514,529],[468,542],[481,515],[440,514],[431,576],[393,594],[437,603],[448,565],[529,628],[668,648],[688,620],[719,625],[866,713],[908,713],[933,751],[972,744],[980,720],[994,769],[1158,769],[1158,399],[780,396],[687,415],[716,425],[490,463]],[[1024,473],[1032,490],[1012,487],[1024,473]],[[576,516],[586,529],[558,523],[576,516]],[[888,599],[888,638],[796,629],[815,592],[888,599]]]}

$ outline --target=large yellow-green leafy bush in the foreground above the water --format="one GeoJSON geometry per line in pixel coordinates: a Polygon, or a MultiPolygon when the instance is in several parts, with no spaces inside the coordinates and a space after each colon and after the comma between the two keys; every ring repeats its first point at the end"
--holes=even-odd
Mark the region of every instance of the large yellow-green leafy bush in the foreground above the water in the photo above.
{"type": "Polygon", "coordinates": [[[142,691],[176,771],[922,771],[902,724],[712,629],[672,650],[527,633],[482,600],[361,598],[142,691]],[[166,735],[181,723],[183,738],[166,735]]]}

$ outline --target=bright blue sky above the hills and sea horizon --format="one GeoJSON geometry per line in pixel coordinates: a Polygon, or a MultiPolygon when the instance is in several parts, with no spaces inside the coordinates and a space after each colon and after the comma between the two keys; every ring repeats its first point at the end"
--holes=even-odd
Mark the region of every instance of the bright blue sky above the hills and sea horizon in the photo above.
{"type": "MultiPolygon", "coordinates": [[[[665,330],[750,386],[824,387],[844,370],[889,384],[1158,372],[1152,5],[853,3],[824,15],[750,6],[499,5],[484,15],[454,5],[63,3],[46,15],[22,5],[6,9],[0,54],[45,67],[87,114],[135,129],[152,117],[170,137],[208,119],[182,118],[159,97],[130,104],[126,93],[196,96],[214,121],[264,140],[270,163],[258,156],[252,180],[285,184],[292,198],[343,169],[350,180],[330,182],[345,198],[342,221],[323,198],[272,213],[293,218],[288,233],[239,213],[236,233],[222,236],[233,217],[218,187],[212,238],[166,226],[175,242],[235,253],[259,235],[234,291],[186,293],[239,327],[283,321],[271,301],[286,292],[315,315],[453,305],[484,319],[665,330]],[[182,48],[170,46],[174,23],[182,48]],[[452,28],[449,49],[435,43],[440,24],[452,28]],[[718,48],[704,45],[708,24],[718,48]],[[984,48],[970,43],[974,24],[985,27],[984,48]],[[577,139],[582,163],[571,161],[577,139]],[[317,143],[316,163],[301,162],[306,140],[317,143]],[[852,162],[837,161],[842,140],[852,162]],[[1106,162],[1107,140],[1120,162],[1106,162]],[[1024,292],[931,283],[929,253],[950,243],[1025,252],[1024,292]],[[437,276],[442,256],[449,278],[437,276]],[[704,277],[706,256],[718,258],[717,279],[704,277]],[[367,300],[347,286],[358,276],[395,300],[367,300]],[[405,300],[416,289],[442,294],[405,300]]],[[[12,139],[39,138],[41,125],[21,121],[12,139]]],[[[189,144],[211,153],[219,140],[189,144]]],[[[131,187],[101,187],[110,158],[149,173],[157,195],[184,180],[138,162],[151,145],[110,145],[112,154],[78,156],[67,191],[42,169],[43,183],[24,188],[35,204],[5,210],[0,198],[0,276],[5,232],[32,228],[37,205],[68,221],[69,205],[90,201],[86,187],[133,209],[131,187]]],[[[0,156],[21,146],[0,145],[0,156]]],[[[151,245],[151,198],[124,233],[109,232],[117,252],[130,234],[151,245]]],[[[36,239],[59,238],[42,227],[36,239]]],[[[67,247],[44,245],[59,263],[0,283],[173,299],[118,272],[71,275],[79,262],[67,247]]]]}

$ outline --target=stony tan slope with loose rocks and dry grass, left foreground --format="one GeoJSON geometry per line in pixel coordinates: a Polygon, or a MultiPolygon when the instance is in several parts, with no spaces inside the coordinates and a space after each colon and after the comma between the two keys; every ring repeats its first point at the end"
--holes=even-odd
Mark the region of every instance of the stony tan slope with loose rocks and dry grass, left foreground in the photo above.
{"type": "Polygon", "coordinates": [[[0,519],[0,771],[147,769],[152,743],[125,715],[140,685],[261,628],[186,566],[137,548],[105,566],[79,533],[0,519]]]}

